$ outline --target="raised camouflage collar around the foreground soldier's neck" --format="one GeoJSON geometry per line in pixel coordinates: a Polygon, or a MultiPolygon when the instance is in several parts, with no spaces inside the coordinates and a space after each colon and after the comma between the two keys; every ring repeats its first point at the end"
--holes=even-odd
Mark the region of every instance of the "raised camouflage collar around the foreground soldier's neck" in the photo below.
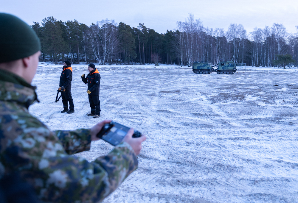
{"type": "Polygon", "coordinates": [[[0,70],[0,74],[0,101],[17,102],[27,109],[38,101],[36,87],[13,73],[0,70]]]}

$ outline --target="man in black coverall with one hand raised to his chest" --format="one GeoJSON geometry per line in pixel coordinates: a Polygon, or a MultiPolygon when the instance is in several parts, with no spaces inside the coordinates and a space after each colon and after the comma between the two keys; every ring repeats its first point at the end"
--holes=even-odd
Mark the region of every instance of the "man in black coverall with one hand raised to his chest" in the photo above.
{"type": "Polygon", "coordinates": [[[93,63],[88,65],[89,74],[85,78],[85,74],[83,74],[82,81],[86,84],[88,83],[87,93],[91,113],[87,113],[88,116],[93,116],[93,118],[98,118],[100,116],[100,100],[99,100],[99,85],[100,85],[100,74],[98,70],[95,68],[93,63]]]}

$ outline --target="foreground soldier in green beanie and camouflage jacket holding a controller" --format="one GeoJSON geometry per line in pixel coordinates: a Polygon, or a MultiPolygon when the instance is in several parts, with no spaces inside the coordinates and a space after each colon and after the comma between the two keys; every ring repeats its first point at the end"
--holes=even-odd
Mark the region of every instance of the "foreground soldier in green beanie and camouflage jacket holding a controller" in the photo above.
{"type": "MultiPolygon", "coordinates": [[[[20,38],[32,35],[24,34],[29,26],[19,21],[15,16],[0,13],[0,27],[23,23],[21,30],[16,26],[13,32],[20,32],[20,38]],[[13,22],[1,25],[7,19],[13,22]]],[[[1,38],[1,34],[0,31],[0,45],[10,41],[5,36],[1,38]]],[[[32,43],[30,40],[24,41],[32,43]]],[[[102,201],[136,170],[136,154],[145,136],[131,138],[131,129],[114,150],[91,163],[73,156],[89,150],[91,140],[96,140],[97,132],[110,121],[103,121],[91,129],[51,132],[30,115],[28,107],[37,101],[35,87],[30,85],[40,55],[40,46],[36,47],[25,49],[27,55],[18,55],[25,58],[13,58],[12,63],[1,58],[0,48],[0,182],[3,177],[17,173],[21,181],[33,186],[43,202],[102,201]]]]}

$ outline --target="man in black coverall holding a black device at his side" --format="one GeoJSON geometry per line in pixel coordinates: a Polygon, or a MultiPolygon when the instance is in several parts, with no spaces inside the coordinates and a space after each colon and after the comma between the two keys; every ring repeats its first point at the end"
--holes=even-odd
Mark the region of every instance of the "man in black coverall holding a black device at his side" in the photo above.
{"type": "MultiPolygon", "coordinates": [[[[60,83],[59,86],[61,88],[62,92],[62,103],[64,110],[61,111],[61,113],[74,113],[75,112],[75,106],[74,101],[72,100],[72,67],[70,61],[64,61],[63,63],[63,71],[60,76],[60,83]],[[69,102],[69,110],[68,110],[68,102],[69,102]]],[[[59,89],[60,89],[59,88],[59,89]]]]}

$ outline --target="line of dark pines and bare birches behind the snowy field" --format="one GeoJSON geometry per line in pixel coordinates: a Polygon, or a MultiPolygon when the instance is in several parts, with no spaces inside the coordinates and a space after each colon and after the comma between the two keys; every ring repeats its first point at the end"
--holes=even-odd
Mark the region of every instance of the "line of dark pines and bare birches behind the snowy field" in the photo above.
{"type": "MultiPolygon", "coordinates": [[[[298,32],[288,33],[283,24],[247,33],[241,24],[222,28],[204,27],[189,14],[177,21],[175,30],[159,34],[144,24],[131,27],[123,22],[102,20],[90,26],[74,21],[44,18],[31,26],[41,39],[42,59],[58,63],[148,64],[191,66],[234,61],[255,67],[297,66],[298,32]]],[[[298,31],[298,27],[297,27],[298,31]]]]}

